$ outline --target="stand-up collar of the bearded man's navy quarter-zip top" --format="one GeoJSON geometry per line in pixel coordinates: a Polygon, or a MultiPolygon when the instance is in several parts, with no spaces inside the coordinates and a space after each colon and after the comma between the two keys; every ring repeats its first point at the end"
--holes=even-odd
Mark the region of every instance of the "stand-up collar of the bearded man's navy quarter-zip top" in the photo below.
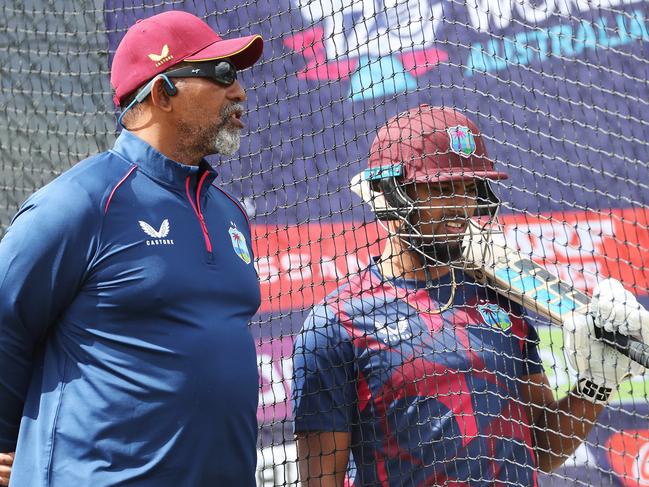
{"type": "Polygon", "coordinates": [[[174,187],[184,187],[187,178],[196,179],[198,174],[207,171],[205,183],[209,185],[217,175],[212,165],[205,159],[198,166],[188,166],[169,159],[158,152],[137,135],[122,130],[115,141],[112,152],[136,164],[139,171],[156,181],[174,187]]]}

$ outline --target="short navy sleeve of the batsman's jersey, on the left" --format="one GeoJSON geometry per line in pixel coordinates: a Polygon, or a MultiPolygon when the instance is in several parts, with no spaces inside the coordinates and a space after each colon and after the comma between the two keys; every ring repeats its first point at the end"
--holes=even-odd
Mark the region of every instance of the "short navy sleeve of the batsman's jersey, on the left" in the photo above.
{"type": "Polygon", "coordinates": [[[295,432],[351,431],[356,410],[354,350],[326,306],[316,307],[293,353],[295,432]]]}

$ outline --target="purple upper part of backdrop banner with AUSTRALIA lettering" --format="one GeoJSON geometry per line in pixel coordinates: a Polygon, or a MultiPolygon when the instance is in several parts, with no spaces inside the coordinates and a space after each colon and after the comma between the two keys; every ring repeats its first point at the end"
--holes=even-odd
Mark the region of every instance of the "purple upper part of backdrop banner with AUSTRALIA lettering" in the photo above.
{"type": "MultiPolygon", "coordinates": [[[[529,3],[523,13],[506,2],[498,12],[431,0],[416,8],[411,0],[340,3],[172,4],[225,37],[266,40],[262,63],[241,76],[254,107],[242,155],[220,168],[237,196],[254,199],[257,222],[367,216],[349,180],[366,164],[377,127],[420,103],[475,119],[511,176],[497,190],[513,208],[649,204],[649,192],[627,182],[649,180],[639,162],[647,152],[649,93],[638,61],[649,55],[646,3],[529,3]]],[[[137,18],[172,5],[106,1],[111,53],[137,18]]]]}

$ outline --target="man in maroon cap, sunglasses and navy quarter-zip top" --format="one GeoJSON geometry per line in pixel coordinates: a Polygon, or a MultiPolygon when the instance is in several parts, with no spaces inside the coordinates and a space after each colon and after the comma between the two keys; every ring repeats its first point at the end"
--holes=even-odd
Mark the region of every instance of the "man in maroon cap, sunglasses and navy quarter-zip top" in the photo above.
{"type": "Polygon", "coordinates": [[[138,21],[124,130],[32,195],[0,243],[0,485],[253,486],[260,303],[245,211],[205,160],[239,146],[259,36],[138,21]]]}

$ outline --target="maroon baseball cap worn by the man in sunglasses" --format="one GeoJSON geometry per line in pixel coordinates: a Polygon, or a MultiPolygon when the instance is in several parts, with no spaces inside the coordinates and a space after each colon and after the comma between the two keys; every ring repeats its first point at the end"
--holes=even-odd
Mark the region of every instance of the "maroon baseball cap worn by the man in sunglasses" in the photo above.
{"type": "Polygon", "coordinates": [[[261,36],[221,39],[203,20],[179,10],[138,20],[128,29],[113,57],[113,100],[119,106],[136,88],[182,61],[229,58],[237,69],[249,68],[263,48],[261,36]]]}

